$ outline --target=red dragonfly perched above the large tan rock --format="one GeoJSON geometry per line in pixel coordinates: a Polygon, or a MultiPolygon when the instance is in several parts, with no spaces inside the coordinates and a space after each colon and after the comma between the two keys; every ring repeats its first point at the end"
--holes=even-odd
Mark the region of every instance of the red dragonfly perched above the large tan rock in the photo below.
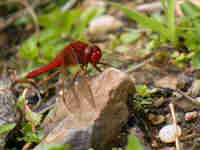
{"type": "MultiPolygon", "coordinates": [[[[67,68],[70,66],[80,65],[81,70],[79,70],[75,74],[73,78],[74,81],[78,76],[78,74],[80,73],[80,71],[83,71],[84,74],[87,74],[87,67],[89,63],[91,63],[99,72],[101,72],[101,69],[97,66],[98,64],[110,66],[109,64],[100,62],[101,57],[102,57],[102,52],[98,46],[89,45],[81,41],[72,42],[68,44],[51,63],[42,68],[36,69],[35,71],[28,73],[25,77],[34,78],[40,74],[48,72],[57,67],[61,67],[63,69],[64,67],[67,68]]],[[[64,87],[63,87],[63,95],[64,95],[64,87]]],[[[89,103],[92,104],[93,107],[95,107],[94,99],[93,102],[91,102],[90,100],[89,103]]]]}

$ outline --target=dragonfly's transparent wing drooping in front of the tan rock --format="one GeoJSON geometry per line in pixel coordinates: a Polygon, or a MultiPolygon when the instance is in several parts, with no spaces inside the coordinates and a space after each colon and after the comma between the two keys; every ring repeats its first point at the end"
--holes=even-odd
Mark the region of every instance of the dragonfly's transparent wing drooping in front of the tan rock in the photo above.
{"type": "Polygon", "coordinates": [[[64,87],[64,81],[66,80],[66,69],[73,74],[73,82],[71,91],[73,93],[72,97],[68,97],[68,93],[65,94],[63,89],[63,101],[66,105],[66,108],[73,113],[79,114],[83,113],[84,109],[96,108],[94,96],[88,81],[86,80],[85,75],[87,72],[84,72],[84,69],[80,67],[77,55],[74,50],[69,55],[65,55],[65,59],[69,63],[64,63],[61,67],[62,69],[62,82],[64,87]],[[72,63],[73,62],[73,63],[72,63]],[[79,80],[76,80],[79,77],[79,80]],[[73,101],[72,101],[73,100],[73,101]]]}

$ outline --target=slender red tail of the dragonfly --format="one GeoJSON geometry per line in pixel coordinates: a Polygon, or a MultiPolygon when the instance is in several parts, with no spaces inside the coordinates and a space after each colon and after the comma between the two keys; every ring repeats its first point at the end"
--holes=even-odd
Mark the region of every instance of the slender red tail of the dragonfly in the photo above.
{"type": "Polygon", "coordinates": [[[48,72],[50,71],[51,69],[54,69],[56,67],[59,67],[61,65],[60,62],[58,61],[53,61],[52,63],[42,67],[42,68],[39,68],[39,69],[36,69],[35,71],[32,71],[30,73],[28,73],[28,75],[26,75],[26,78],[34,78],[42,73],[45,73],[45,72],[48,72]]]}

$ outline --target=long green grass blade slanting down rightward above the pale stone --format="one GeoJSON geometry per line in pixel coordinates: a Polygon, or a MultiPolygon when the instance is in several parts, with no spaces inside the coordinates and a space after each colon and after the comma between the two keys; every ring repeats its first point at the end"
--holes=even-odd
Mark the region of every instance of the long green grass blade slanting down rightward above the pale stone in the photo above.
{"type": "Polygon", "coordinates": [[[137,23],[139,23],[144,28],[151,29],[154,32],[158,32],[162,38],[170,40],[170,36],[169,36],[167,27],[165,27],[163,24],[161,24],[154,18],[150,18],[136,10],[125,8],[122,5],[117,4],[117,3],[109,2],[108,4],[120,9],[124,14],[126,14],[131,19],[135,20],[137,23]]]}

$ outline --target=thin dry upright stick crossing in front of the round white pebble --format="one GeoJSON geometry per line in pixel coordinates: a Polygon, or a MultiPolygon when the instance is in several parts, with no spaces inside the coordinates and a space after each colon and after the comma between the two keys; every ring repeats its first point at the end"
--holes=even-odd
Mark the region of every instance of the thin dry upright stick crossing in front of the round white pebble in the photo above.
{"type": "Polygon", "coordinates": [[[169,108],[172,114],[173,118],[173,126],[175,128],[175,137],[176,137],[176,150],[180,150],[180,144],[179,144],[179,137],[178,137],[178,129],[177,129],[177,122],[176,122],[176,115],[174,110],[174,105],[172,103],[169,104],[169,108]]]}

